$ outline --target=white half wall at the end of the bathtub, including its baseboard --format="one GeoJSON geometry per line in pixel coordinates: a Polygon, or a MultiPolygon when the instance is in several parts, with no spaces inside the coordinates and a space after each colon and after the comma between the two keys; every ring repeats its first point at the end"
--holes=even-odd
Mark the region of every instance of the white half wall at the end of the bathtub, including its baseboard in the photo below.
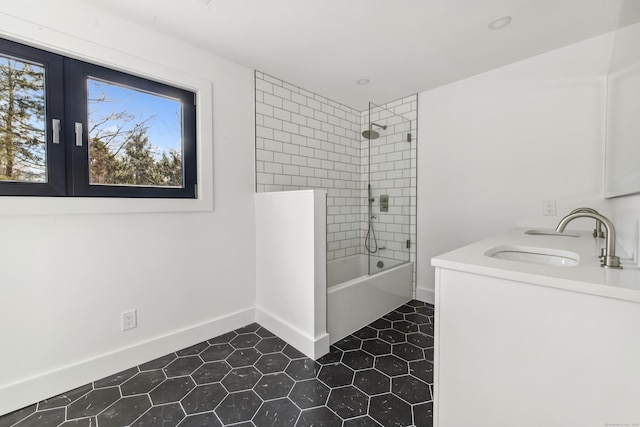
{"type": "Polygon", "coordinates": [[[329,352],[327,193],[256,194],[256,320],[308,357],[329,352]]]}

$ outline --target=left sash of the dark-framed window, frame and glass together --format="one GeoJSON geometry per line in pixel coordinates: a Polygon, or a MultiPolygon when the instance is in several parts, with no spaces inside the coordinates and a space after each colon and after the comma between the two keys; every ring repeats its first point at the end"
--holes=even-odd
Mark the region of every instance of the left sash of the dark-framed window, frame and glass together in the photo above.
{"type": "Polygon", "coordinates": [[[64,195],[59,55],[0,40],[0,194],[64,195]]]}

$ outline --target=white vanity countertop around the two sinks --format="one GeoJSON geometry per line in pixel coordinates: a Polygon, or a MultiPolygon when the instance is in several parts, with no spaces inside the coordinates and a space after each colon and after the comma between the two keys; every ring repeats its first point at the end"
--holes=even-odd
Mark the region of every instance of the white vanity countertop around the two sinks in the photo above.
{"type": "Polygon", "coordinates": [[[619,248],[616,248],[616,255],[620,256],[623,268],[604,268],[598,258],[604,239],[595,239],[588,231],[580,231],[580,237],[525,234],[530,229],[515,228],[480,240],[439,255],[431,260],[431,264],[449,270],[640,302],[640,269],[630,259],[625,259],[627,255],[619,248]],[[485,255],[492,248],[503,245],[572,251],[580,256],[580,263],[574,267],[549,266],[485,255]]]}

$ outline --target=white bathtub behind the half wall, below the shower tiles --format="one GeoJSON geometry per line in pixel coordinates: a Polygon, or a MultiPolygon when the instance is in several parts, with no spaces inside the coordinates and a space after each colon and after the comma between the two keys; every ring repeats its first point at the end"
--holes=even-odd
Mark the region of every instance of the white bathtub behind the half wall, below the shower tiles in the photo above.
{"type": "Polygon", "coordinates": [[[327,263],[327,330],[331,343],[346,337],[413,296],[412,263],[352,255],[327,263]],[[375,267],[378,261],[383,268],[375,267]],[[374,273],[374,270],[372,270],[374,273]]]}

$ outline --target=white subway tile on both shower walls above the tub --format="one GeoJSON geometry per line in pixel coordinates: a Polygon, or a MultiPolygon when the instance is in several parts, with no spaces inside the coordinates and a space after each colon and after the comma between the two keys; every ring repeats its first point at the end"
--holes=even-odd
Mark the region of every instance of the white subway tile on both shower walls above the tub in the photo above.
{"type": "Polygon", "coordinates": [[[369,141],[362,137],[369,110],[354,110],[261,72],[255,87],[256,190],[326,190],[327,259],[332,260],[366,253],[371,172],[374,228],[379,247],[385,247],[378,255],[415,262],[417,95],[373,108],[372,120],[387,129],[378,129],[380,137],[369,141]],[[381,194],[389,195],[388,213],[379,212],[381,194]]]}

